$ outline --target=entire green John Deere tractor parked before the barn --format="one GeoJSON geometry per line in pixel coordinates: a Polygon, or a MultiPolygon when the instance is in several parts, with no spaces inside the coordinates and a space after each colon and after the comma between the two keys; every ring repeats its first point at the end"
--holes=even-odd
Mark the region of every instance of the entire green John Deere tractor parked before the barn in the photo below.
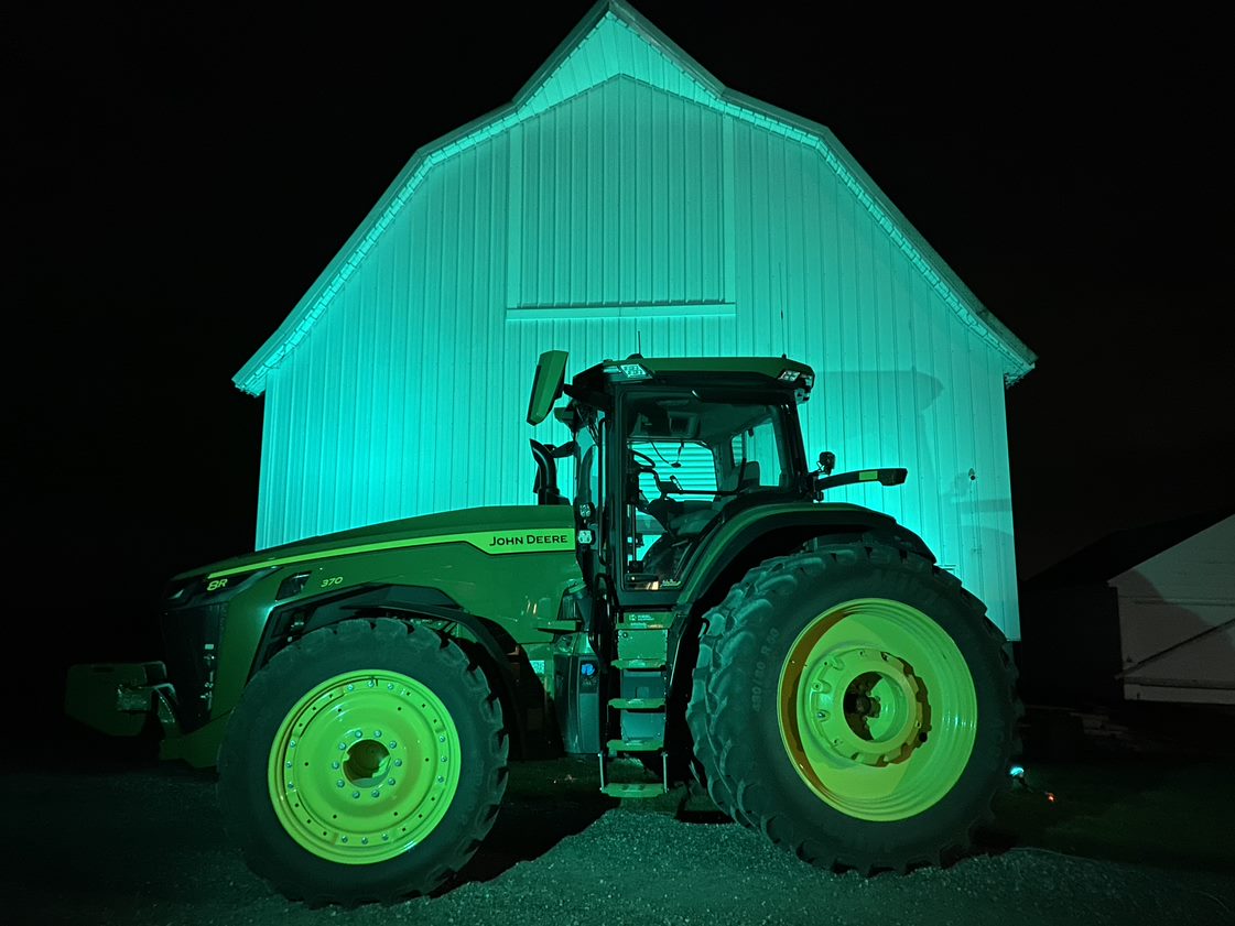
{"type": "Polygon", "coordinates": [[[1009,783],[1004,638],[916,535],[823,500],[905,470],[808,464],[802,363],[636,354],[567,384],[566,359],[542,354],[532,385],[529,423],[572,433],[531,442],[536,505],[178,575],[164,661],[74,667],[69,714],[154,715],[162,756],[217,765],[249,866],[311,903],[442,885],[508,761],[545,743],[599,757],[615,798],[705,783],[816,866],[962,854],[1009,783]]]}

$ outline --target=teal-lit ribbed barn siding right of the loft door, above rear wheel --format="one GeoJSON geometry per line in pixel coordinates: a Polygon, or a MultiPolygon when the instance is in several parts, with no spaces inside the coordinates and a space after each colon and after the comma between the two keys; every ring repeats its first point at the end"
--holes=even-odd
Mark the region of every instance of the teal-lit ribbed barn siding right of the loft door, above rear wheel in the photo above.
{"type": "Polygon", "coordinates": [[[829,498],[921,533],[1016,635],[998,358],[815,152],[746,123],[731,131],[741,352],[785,352],[815,367],[803,415],[811,458],[831,449],[842,469],[910,470],[904,486],[829,498]]]}

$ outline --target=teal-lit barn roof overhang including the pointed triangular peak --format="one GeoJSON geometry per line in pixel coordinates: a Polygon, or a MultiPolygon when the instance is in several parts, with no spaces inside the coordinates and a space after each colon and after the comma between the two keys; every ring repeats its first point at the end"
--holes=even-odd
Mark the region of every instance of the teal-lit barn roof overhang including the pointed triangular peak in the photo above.
{"type": "Polygon", "coordinates": [[[278,367],[304,340],[430,170],[618,75],[631,77],[814,148],[927,284],[1000,356],[1005,380],[1011,384],[1034,368],[1037,359],[1034,352],[982,305],[826,127],[730,90],[629,5],[621,0],[599,0],[509,105],[411,156],[287,320],[236,373],[232,378],[236,385],[252,395],[264,391],[267,372],[278,367]]]}

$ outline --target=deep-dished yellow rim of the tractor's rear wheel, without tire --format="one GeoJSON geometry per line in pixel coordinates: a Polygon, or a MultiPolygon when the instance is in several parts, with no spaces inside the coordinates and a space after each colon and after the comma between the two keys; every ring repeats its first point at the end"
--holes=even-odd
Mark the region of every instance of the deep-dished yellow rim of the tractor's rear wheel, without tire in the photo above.
{"type": "Polygon", "coordinates": [[[813,619],[778,686],[781,741],[803,782],[860,820],[904,820],[960,780],[977,737],[969,667],[900,601],[857,599],[813,619]]]}

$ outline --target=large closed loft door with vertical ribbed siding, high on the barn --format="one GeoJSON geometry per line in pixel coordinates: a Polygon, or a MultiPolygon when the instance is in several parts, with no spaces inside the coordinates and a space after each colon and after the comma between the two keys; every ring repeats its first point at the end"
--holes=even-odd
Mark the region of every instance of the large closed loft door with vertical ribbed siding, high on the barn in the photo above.
{"type": "Polygon", "coordinates": [[[614,78],[511,130],[511,307],[725,301],[724,117],[614,78]]]}

